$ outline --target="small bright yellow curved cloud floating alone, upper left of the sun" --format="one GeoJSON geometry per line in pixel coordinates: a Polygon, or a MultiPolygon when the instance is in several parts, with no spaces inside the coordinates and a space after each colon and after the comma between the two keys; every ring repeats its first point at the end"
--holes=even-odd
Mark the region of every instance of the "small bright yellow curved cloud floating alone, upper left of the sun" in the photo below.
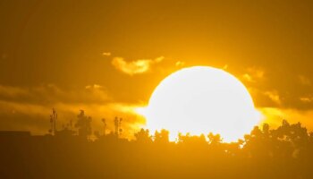
{"type": "Polygon", "coordinates": [[[127,62],[123,57],[114,57],[112,64],[114,67],[126,74],[135,75],[149,72],[153,64],[160,63],[164,60],[164,56],[159,56],[155,59],[139,59],[127,62]]]}

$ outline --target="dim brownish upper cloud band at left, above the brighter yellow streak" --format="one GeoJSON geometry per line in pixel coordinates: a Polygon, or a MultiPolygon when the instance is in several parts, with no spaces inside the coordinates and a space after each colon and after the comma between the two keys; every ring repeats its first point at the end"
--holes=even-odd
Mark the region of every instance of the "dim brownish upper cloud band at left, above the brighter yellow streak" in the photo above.
{"type": "Polygon", "coordinates": [[[43,84],[27,88],[0,85],[0,99],[42,105],[54,104],[59,101],[101,104],[112,100],[106,88],[98,84],[72,90],[63,90],[54,84],[43,84]]]}

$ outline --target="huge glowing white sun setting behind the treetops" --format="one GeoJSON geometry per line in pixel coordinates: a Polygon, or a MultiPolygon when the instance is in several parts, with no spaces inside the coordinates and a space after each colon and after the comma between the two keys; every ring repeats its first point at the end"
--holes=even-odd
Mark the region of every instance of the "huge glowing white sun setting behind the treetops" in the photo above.
{"type": "Polygon", "coordinates": [[[221,134],[237,141],[260,119],[245,86],[229,72],[194,66],[173,72],[161,81],[144,112],[147,128],[178,132],[221,134]]]}

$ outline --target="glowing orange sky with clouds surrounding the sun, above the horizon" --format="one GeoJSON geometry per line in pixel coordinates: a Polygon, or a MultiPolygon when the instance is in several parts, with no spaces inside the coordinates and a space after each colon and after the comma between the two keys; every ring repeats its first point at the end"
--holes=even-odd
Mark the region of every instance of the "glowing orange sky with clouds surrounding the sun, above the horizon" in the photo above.
{"type": "Polygon", "coordinates": [[[233,73],[271,124],[313,130],[309,1],[2,1],[0,130],[46,132],[79,109],[130,115],[158,82],[192,65],[233,73]]]}

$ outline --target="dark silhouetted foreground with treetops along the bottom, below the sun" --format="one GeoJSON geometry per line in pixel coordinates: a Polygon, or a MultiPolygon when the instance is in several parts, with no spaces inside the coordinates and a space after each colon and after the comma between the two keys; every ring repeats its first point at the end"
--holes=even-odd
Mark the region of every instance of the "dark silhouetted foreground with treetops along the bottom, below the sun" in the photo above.
{"type": "Polygon", "coordinates": [[[0,178],[313,178],[313,135],[300,124],[264,125],[234,143],[213,134],[176,143],[166,131],[135,136],[0,132],[0,178]]]}

